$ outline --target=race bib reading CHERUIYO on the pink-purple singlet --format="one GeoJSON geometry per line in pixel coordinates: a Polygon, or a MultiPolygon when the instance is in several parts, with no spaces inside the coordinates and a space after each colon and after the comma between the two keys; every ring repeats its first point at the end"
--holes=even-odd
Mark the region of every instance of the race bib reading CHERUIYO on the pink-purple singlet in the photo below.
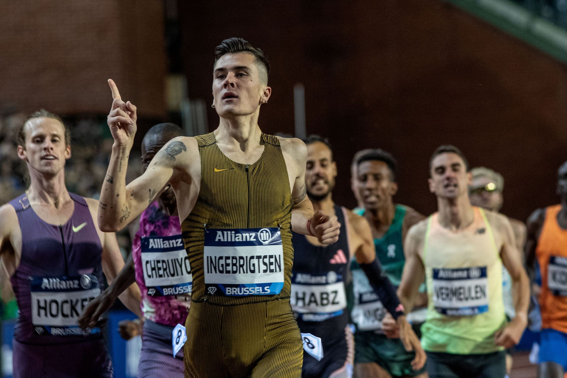
{"type": "Polygon", "coordinates": [[[142,237],[141,250],[148,295],[191,294],[193,277],[181,235],[142,237]]]}

